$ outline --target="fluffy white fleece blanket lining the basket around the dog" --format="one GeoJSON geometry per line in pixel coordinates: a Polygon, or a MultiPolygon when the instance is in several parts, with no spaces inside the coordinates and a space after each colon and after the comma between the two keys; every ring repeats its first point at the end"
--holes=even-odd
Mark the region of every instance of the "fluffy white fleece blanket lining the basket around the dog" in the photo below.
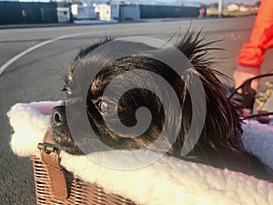
{"type": "MultiPolygon", "coordinates": [[[[39,156],[36,149],[50,127],[50,112],[58,102],[16,104],[7,113],[14,128],[11,148],[16,155],[39,156]]],[[[245,148],[273,169],[273,127],[257,122],[243,126],[245,148]]],[[[109,151],[93,153],[102,162],[134,164],[159,153],[143,151],[109,151]]],[[[106,192],[116,193],[139,204],[273,204],[273,183],[227,169],[215,169],[163,156],[149,166],[118,170],[104,167],[86,156],[60,153],[61,164],[81,179],[96,182],[106,192]]]]}

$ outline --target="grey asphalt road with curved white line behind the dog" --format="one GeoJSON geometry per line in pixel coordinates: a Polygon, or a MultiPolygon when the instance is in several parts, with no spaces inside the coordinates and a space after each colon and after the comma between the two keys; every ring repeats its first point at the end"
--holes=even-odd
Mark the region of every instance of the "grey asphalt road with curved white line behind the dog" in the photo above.
{"type": "MultiPolygon", "coordinates": [[[[0,29],[0,204],[35,204],[30,159],[16,157],[9,147],[12,128],[5,113],[17,102],[59,100],[66,69],[81,47],[103,36],[142,36],[167,40],[177,31],[203,29],[207,40],[220,40],[213,51],[215,68],[231,77],[240,46],[248,40],[254,16],[222,19],[93,26],[44,26],[0,29]]],[[[273,70],[269,51],[262,72],[273,70]]]]}

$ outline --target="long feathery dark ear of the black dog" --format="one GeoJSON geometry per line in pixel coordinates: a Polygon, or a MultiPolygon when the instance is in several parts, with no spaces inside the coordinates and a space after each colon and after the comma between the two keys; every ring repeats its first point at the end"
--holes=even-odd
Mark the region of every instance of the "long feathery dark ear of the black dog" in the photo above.
{"type": "MultiPolygon", "coordinates": [[[[231,99],[226,97],[223,84],[217,78],[217,76],[226,76],[213,68],[216,63],[207,56],[207,51],[222,50],[211,46],[215,42],[206,42],[200,32],[196,34],[188,31],[186,36],[179,37],[176,46],[187,56],[193,66],[193,69],[190,68],[188,72],[197,74],[206,95],[206,121],[202,132],[203,136],[199,138],[199,142],[210,144],[210,147],[215,149],[241,149],[241,110],[231,99]]],[[[183,77],[186,79],[185,87],[189,83],[187,82],[189,77],[183,77]]],[[[185,92],[186,95],[190,95],[188,93],[185,92]]],[[[190,100],[190,97],[186,98],[190,100]]]]}

